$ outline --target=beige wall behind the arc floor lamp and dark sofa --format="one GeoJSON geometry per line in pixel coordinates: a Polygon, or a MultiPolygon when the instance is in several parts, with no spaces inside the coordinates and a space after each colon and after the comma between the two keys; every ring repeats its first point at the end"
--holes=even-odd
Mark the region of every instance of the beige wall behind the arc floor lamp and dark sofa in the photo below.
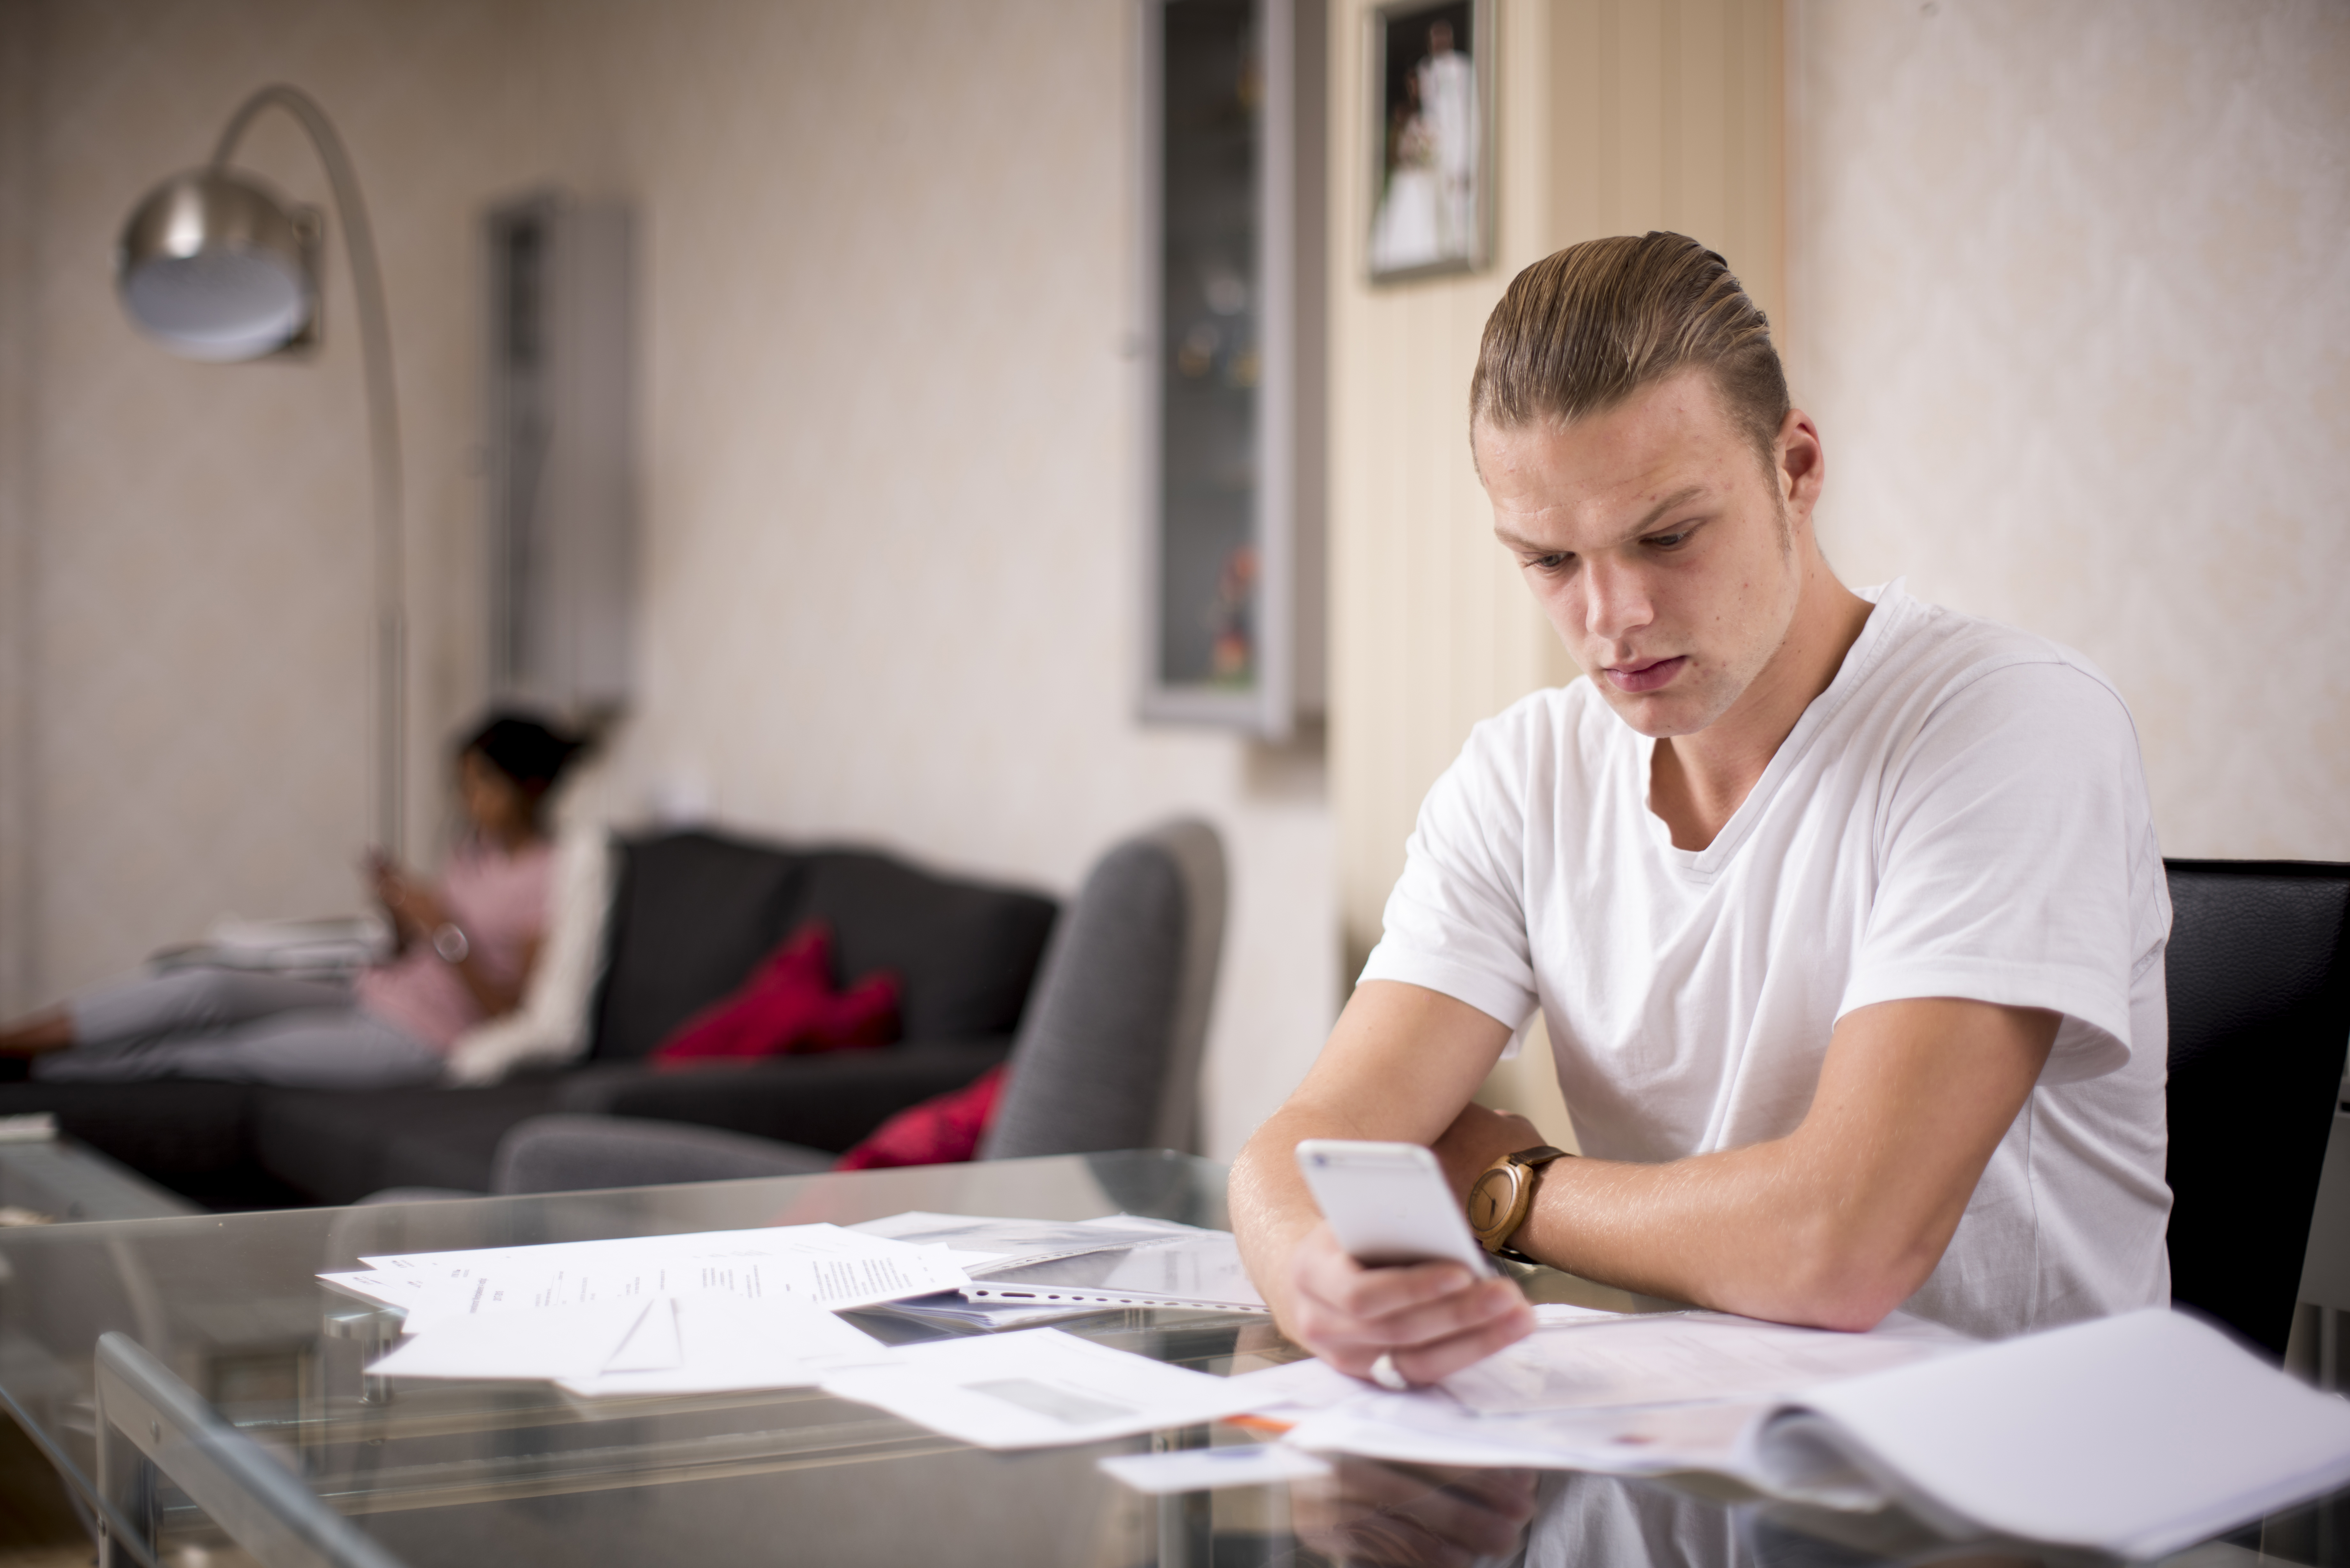
{"type": "MultiPolygon", "coordinates": [[[[132,336],[103,268],[139,190],[284,78],[341,120],[385,249],[416,832],[442,797],[439,736],[479,698],[475,214],[540,179],[632,197],[644,701],[592,809],[700,802],[738,827],[1060,891],[1116,835],[1206,813],[1234,867],[1210,1150],[1288,1091],[1337,994],[1321,757],[1130,719],[1128,7],[31,12],[38,877],[0,1001],[92,980],[221,910],[352,903],[367,470],[348,315],[315,364],[193,367],[132,336]]],[[[282,125],[256,132],[251,165],[320,195],[282,125]]],[[[329,296],[348,301],[341,270],[329,296]]],[[[0,400],[0,442],[5,416],[0,400]]]]}

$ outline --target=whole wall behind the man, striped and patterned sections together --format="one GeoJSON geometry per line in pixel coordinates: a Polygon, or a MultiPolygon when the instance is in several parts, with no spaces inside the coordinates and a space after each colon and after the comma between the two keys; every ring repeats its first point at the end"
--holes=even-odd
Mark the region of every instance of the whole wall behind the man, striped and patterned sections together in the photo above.
{"type": "MultiPolygon", "coordinates": [[[[2096,658],[2169,853],[2350,858],[2350,12],[1795,0],[1784,78],[1777,5],[1502,24],[1492,275],[1370,289],[1340,183],[1349,954],[1469,724],[1574,675],[1483,536],[1483,315],[1516,266],[1650,226],[1723,249],[1779,324],[1847,581],[1908,574],[2096,658]]],[[[1528,1067],[1490,1098],[1539,1105],[1528,1067]]]]}

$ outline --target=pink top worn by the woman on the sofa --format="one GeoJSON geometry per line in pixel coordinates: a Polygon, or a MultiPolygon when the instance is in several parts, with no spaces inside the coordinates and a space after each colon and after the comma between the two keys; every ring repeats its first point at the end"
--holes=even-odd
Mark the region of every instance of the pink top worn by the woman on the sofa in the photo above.
{"type": "MultiPolygon", "coordinates": [[[[548,929],[548,889],[555,856],[548,844],[522,853],[468,844],[442,870],[442,905],[472,945],[491,978],[512,983],[522,959],[548,929]]],[[[432,952],[430,936],[409,943],[390,964],[360,976],[360,1006],[400,1025],[416,1039],[446,1051],[456,1037],[482,1023],[482,1004],[465,976],[432,952]]]]}

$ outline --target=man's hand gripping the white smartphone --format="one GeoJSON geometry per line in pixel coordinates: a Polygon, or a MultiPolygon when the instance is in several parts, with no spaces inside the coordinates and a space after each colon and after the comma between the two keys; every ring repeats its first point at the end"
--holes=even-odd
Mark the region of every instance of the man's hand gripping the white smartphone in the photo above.
{"type": "Polygon", "coordinates": [[[1283,1328],[1316,1356],[1370,1378],[1391,1356],[1405,1382],[1438,1382],[1535,1331],[1516,1281],[1457,1262],[1363,1267],[1316,1225],[1290,1253],[1283,1328]]]}

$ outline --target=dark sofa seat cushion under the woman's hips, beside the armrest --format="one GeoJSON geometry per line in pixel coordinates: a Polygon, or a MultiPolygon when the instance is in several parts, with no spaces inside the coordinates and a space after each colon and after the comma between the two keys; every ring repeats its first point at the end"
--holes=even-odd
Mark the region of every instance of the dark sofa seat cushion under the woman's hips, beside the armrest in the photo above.
{"type": "Polygon", "coordinates": [[[486,1088],[263,1088],[254,1157],[313,1204],[357,1204],[385,1187],[489,1192],[498,1140],[552,1110],[555,1077],[486,1088]]]}

